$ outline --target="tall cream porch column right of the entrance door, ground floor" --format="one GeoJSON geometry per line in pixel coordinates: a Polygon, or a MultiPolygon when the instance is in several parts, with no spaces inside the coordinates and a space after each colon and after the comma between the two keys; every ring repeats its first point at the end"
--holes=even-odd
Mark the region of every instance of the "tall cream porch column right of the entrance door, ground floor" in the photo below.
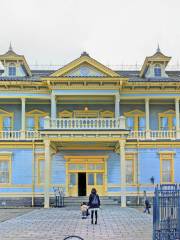
{"type": "Polygon", "coordinates": [[[119,141],[120,168],[121,168],[121,207],[126,207],[126,162],[125,162],[125,141],[119,141]]]}

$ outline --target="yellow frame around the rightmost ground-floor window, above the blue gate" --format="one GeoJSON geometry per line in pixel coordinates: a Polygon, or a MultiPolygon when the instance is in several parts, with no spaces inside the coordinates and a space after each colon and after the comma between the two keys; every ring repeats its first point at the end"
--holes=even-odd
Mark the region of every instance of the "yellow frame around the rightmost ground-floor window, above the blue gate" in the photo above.
{"type": "Polygon", "coordinates": [[[174,183],[174,153],[163,153],[160,152],[160,182],[161,184],[166,184],[166,183],[174,183]],[[169,160],[170,161],[170,182],[163,182],[163,160],[169,160]]]}

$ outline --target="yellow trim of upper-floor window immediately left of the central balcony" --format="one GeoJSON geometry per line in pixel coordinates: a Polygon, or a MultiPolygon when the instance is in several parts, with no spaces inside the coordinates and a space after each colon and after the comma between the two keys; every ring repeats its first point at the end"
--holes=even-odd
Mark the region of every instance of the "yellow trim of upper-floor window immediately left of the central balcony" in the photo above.
{"type": "Polygon", "coordinates": [[[34,118],[34,130],[38,130],[39,129],[39,119],[41,117],[46,117],[46,116],[49,116],[49,113],[38,110],[38,109],[34,109],[32,111],[26,112],[26,128],[28,128],[28,126],[27,126],[27,118],[28,117],[34,118]]]}

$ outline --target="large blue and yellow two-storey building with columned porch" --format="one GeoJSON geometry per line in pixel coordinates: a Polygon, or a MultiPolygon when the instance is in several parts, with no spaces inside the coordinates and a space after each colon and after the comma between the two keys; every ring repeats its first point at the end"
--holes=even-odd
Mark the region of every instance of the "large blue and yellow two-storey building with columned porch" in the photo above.
{"type": "Polygon", "coordinates": [[[0,205],[50,206],[65,196],[121,206],[180,182],[180,71],[158,48],[140,71],[113,71],[86,52],[56,70],[0,55],[0,205]]]}

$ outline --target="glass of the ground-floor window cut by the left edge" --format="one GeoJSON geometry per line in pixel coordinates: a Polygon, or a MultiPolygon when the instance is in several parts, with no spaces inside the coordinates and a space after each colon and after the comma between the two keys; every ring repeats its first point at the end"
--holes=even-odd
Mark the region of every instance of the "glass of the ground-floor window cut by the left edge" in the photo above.
{"type": "Polygon", "coordinates": [[[9,164],[9,160],[0,160],[0,183],[10,183],[9,164]]]}

